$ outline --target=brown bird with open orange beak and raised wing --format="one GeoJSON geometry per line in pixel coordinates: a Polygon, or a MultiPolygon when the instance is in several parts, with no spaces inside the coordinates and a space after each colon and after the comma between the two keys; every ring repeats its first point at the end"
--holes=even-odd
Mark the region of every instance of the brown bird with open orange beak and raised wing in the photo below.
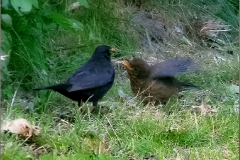
{"type": "Polygon", "coordinates": [[[176,57],[154,65],[140,58],[122,62],[131,82],[134,95],[140,96],[143,103],[165,104],[169,98],[187,88],[197,88],[191,83],[178,81],[178,74],[194,72],[198,65],[190,58],[176,57]]]}

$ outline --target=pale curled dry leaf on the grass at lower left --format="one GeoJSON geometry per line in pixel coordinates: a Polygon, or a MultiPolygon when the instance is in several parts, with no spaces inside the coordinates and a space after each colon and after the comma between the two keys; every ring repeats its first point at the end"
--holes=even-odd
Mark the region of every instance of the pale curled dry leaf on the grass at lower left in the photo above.
{"type": "Polygon", "coordinates": [[[32,126],[26,119],[16,119],[7,121],[1,125],[1,132],[9,131],[23,137],[32,137],[33,135],[39,135],[41,128],[32,126]]]}

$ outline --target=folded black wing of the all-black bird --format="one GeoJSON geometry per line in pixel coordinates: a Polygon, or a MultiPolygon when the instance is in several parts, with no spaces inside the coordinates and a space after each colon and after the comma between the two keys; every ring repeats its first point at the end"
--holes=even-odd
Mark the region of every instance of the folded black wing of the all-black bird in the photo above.
{"type": "Polygon", "coordinates": [[[79,68],[66,82],[72,84],[68,92],[92,89],[114,80],[115,71],[111,63],[87,63],[79,68]]]}

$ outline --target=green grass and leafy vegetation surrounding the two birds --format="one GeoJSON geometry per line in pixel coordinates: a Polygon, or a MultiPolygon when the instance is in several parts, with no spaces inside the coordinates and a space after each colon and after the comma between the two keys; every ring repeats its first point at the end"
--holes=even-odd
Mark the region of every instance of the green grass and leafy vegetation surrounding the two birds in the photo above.
{"type": "Polygon", "coordinates": [[[28,141],[2,134],[2,159],[239,159],[238,1],[75,2],[1,1],[1,120],[42,128],[28,141]],[[164,42],[132,25],[139,10],[164,22],[164,42]],[[100,113],[82,115],[58,93],[33,91],[66,80],[101,44],[118,52],[100,113]],[[200,90],[143,106],[118,61],[176,55],[200,63],[200,72],[178,76],[200,90]]]}

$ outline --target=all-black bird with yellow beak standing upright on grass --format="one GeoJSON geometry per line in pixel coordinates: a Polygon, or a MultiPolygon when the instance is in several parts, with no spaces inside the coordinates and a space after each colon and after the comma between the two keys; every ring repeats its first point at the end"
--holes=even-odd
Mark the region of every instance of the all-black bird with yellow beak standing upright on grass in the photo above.
{"type": "Polygon", "coordinates": [[[90,60],[80,67],[65,83],[48,87],[40,87],[35,90],[52,89],[60,94],[81,102],[92,102],[97,106],[107,91],[112,87],[115,71],[111,63],[110,55],[114,48],[98,46],[90,60]]]}

